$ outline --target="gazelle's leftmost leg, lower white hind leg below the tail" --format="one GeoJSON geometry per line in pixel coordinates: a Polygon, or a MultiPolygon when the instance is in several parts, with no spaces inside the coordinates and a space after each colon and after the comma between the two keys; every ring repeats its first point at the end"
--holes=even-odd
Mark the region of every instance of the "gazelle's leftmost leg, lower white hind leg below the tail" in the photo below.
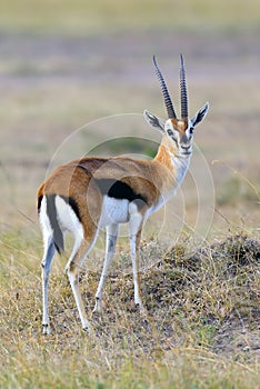
{"type": "Polygon", "coordinates": [[[42,333],[49,335],[50,333],[50,320],[49,320],[49,311],[48,311],[48,286],[49,286],[49,276],[51,270],[51,262],[53,259],[53,256],[56,253],[56,247],[53,240],[50,238],[44,248],[44,255],[41,262],[42,266],[42,306],[43,306],[43,313],[42,313],[42,333]]]}

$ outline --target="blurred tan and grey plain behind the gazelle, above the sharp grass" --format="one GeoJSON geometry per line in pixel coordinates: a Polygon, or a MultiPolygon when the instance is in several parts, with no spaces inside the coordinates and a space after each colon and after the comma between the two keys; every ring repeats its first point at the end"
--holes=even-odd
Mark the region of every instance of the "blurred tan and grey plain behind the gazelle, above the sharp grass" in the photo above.
{"type": "Polygon", "coordinates": [[[152,54],[179,112],[182,52],[190,116],[210,112],[172,209],[191,229],[258,233],[259,36],[257,0],[1,0],[0,228],[37,230],[37,189],[58,163],[152,157],[160,137],[141,113],[166,118],[152,54]]]}

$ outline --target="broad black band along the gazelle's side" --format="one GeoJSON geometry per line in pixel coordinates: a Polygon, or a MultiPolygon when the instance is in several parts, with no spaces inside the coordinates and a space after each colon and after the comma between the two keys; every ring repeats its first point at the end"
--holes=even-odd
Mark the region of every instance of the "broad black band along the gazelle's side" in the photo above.
{"type": "Polygon", "coordinates": [[[107,194],[113,199],[134,201],[138,208],[142,208],[147,201],[142,194],[136,193],[126,182],[102,178],[94,179],[102,194],[107,194]]]}

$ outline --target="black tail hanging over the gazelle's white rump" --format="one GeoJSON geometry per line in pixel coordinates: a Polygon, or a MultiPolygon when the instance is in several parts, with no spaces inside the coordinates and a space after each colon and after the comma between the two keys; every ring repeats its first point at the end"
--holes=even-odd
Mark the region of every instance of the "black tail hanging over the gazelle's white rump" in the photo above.
{"type": "Polygon", "coordinates": [[[53,230],[53,243],[56,246],[57,251],[59,253],[62,253],[64,251],[64,240],[63,233],[57,219],[56,194],[47,196],[47,215],[49,217],[50,225],[53,230]]]}

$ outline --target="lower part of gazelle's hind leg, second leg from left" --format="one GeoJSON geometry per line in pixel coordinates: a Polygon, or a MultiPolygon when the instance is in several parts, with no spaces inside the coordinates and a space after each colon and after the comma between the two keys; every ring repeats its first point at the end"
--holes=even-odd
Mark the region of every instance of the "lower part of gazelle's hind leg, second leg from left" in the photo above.
{"type": "Polygon", "coordinates": [[[83,330],[91,332],[91,326],[87,319],[87,313],[84,310],[84,305],[82,301],[80,288],[79,288],[79,268],[83,263],[84,259],[88,257],[89,252],[92,250],[98,237],[98,231],[92,241],[86,241],[81,236],[77,237],[74,240],[74,247],[70,259],[67,263],[66,270],[69,277],[70,286],[74,296],[76,305],[79,311],[80,320],[83,330]],[[86,246],[89,245],[86,250],[86,246]]]}

